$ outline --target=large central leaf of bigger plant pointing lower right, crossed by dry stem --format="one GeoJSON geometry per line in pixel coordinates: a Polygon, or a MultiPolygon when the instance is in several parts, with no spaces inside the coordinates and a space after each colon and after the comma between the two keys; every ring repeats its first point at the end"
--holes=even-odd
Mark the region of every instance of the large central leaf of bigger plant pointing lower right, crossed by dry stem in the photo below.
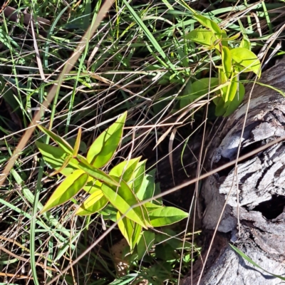
{"type": "MultiPolygon", "coordinates": [[[[117,177],[114,177],[119,180],[117,177]]],[[[112,185],[103,184],[102,192],[105,197],[110,201],[113,206],[118,209],[125,217],[132,219],[134,222],[140,224],[147,229],[148,217],[145,207],[138,206],[131,209],[135,204],[138,204],[138,199],[127,183],[123,180],[120,181],[120,187],[114,187],[112,185]]]]}

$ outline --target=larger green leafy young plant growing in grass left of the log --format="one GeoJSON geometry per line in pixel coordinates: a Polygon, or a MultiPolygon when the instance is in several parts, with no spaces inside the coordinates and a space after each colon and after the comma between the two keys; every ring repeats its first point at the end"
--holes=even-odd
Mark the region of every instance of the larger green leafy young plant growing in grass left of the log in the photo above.
{"type": "Polygon", "coordinates": [[[133,251],[140,240],[142,229],[173,224],[185,219],[188,214],[175,207],[164,207],[155,200],[140,204],[155,195],[155,182],[152,179],[154,172],[152,175],[145,173],[146,160],[140,161],[141,157],[120,162],[109,173],[100,170],[112,160],[118,149],[126,118],[127,113],[123,113],[101,133],[90,146],[86,157],[78,154],[81,129],[78,130],[74,147],[71,147],[66,140],[38,125],[58,147],[42,142],[36,142],[36,145],[44,160],[55,169],[51,175],[61,173],[66,177],[41,213],[70,200],[74,202],[73,197],[84,190],[88,197],[78,206],[75,214],[84,216],[100,212],[103,217],[117,221],[120,232],[133,251]]]}

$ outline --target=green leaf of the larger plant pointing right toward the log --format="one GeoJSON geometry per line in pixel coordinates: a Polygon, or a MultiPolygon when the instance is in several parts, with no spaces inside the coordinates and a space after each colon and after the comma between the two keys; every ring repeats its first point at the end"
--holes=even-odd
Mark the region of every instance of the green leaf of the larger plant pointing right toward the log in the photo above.
{"type": "Polygon", "coordinates": [[[175,207],[159,207],[148,212],[152,227],[163,227],[188,217],[188,213],[175,207]]]}

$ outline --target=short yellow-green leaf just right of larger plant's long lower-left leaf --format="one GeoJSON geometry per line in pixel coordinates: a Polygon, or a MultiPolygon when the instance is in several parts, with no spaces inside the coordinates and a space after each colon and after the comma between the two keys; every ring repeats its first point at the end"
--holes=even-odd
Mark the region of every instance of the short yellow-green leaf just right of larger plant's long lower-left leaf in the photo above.
{"type": "Polygon", "coordinates": [[[103,195],[101,190],[97,190],[90,195],[81,206],[77,209],[78,216],[86,216],[88,214],[95,214],[103,209],[108,204],[108,199],[103,195]]]}

